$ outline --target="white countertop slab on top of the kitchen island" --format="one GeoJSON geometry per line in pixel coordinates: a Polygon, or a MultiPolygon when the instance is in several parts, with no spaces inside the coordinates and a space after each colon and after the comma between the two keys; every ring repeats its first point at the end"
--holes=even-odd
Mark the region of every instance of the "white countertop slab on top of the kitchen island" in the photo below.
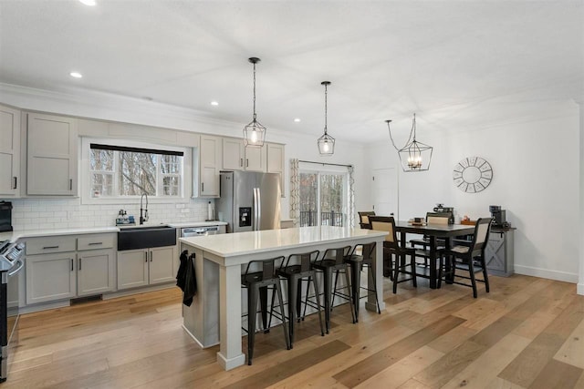
{"type": "Polygon", "coordinates": [[[284,230],[235,232],[180,238],[179,241],[183,241],[190,246],[211,252],[220,257],[228,258],[251,252],[295,248],[308,243],[344,241],[348,238],[358,237],[384,237],[386,235],[387,232],[378,230],[319,226],[284,230]]]}

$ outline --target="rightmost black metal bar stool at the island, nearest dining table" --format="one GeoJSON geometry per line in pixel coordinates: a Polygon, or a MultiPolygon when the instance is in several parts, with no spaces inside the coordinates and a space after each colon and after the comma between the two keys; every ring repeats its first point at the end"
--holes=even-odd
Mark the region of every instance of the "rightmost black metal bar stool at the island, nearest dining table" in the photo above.
{"type": "MultiPolygon", "coordinates": [[[[355,303],[355,321],[359,322],[359,302],[360,302],[360,290],[364,289],[368,292],[368,295],[363,297],[368,297],[370,292],[375,293],[375,302],[377,303],[377,312],[381,313],[380,302],[377,298],[377,285],[375,284],[375,277],[372,277],[373,289],[365,288],[361,286],[361,271],[363,268],[371,268],[373,265],[373,251],[375,250],[375,242],[357,244],[353,247],[350,255],[345,257],[345,261],[349,263],[350,266],[350,282],[353,302],[355,303]],[[360,253],[359,253],[360,252],[360,253]]],[[[333,300],[336,295],[346,297],[343,293],[340,293],[337,289],[337,281],[339,281],[339,271],[337,271],[337,278],[335,279],[335,287],[333,292],[333,300]]]]}

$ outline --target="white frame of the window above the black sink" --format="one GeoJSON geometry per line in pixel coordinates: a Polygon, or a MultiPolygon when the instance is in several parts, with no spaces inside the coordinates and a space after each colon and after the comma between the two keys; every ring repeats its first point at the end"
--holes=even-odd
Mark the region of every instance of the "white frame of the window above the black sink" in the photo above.
{"type": "MultiPolygon", "coordinates": [[[[112,146],[120,146],[120,147],[128,147],[128,148],[150,148],[150,149],[165,149],[169,151],[180,151],[183,152],[183,169],[182,172],[179,174],[181,177],[181,186],[179,188],[179,195],[178,196],[149,196],[148,200],[151,203],[160,203],[160,204],[172,204],[172,203],[183,203],[187,202],[191,199],[191,190],[193,187],[193,148],[184,148],[184,147],[177,147],[172,145],[161,145],[161,144],[151,144],[147,142],[141,142],[136,140],[129,140],[129,139],[120,139],[120,138],[89,138],[89,137],[81,137],[80,138],[81,147],[80,149],[80,157],[81,157],[81,182],[80,182],[80,190],[81,193],[81,203],[82,204],[135,204],[140,201],[139,195],[136,196],[115,196],[115,197],[99,197],[94,198],[90,195],[91,189],[91,174],[92,170],[90,170],[90,144],[91,143],[98,143],[98,144],[110,144],[112,146]]],[[[113,173],[113,190],[115,193],[119,191],[118,182],[119,177],[116,174],[118,169],[120,169],[120,157],[117,153],[114,154],[113,166],[114,166],[114,173],[113,173]]],[[[163,189],[162,177],[168,176],[167,174],[162,174],[162,159],[157,159],[157,169],[156,169],[156,185],[157,185],[157,192],[161,193],[163,189]]],[[[175,174],[172,174],[175,175],[175,174]]]]}

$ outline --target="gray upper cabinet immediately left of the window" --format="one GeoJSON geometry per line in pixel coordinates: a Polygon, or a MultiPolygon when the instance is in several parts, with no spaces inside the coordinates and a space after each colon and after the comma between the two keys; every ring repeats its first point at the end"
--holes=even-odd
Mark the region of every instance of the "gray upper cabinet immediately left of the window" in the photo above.
{"type": "Polygon", "coordinates": [[[77,119],[29,113],[26,129],[26,194],[77,195],[77,119]]]}

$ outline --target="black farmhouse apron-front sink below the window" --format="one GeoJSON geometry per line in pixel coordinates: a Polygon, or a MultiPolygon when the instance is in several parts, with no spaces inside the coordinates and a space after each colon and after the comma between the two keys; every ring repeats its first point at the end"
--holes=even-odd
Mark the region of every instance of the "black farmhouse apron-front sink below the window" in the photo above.
{"type": "Polygon", "coordinates": [[[171,226],[122,227],[118,232],[118,251],[174,246],[176,229],[171,226]]]}

